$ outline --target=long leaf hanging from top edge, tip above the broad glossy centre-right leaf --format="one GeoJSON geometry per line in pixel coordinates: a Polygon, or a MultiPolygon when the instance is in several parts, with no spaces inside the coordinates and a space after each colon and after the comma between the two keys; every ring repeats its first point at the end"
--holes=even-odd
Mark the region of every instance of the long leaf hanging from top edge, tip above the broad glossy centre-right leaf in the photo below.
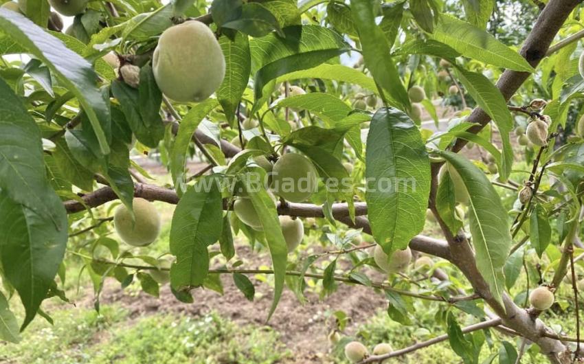
{"type": "Polygon", "coordinates": [[[359,40],[363,48],[363,59],[373,78],[388,91],[396,106],[409,109],[409,98],[401,83],[399,73],[390,56],[390,44],[375,22],[374,5],[371,0],[352,0],[353,20],[357,24],[359,40]]]}

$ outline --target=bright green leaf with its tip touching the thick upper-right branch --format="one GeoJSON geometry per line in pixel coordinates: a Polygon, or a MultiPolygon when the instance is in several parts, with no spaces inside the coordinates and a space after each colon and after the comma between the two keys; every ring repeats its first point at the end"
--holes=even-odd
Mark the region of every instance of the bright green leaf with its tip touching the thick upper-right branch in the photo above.
{"type": "Polygon", "coordinates": [[[432,36],[462,56],[514,71],[534,71],[525,58],[491,34],[448,14],[440,16],[432,36]]]}

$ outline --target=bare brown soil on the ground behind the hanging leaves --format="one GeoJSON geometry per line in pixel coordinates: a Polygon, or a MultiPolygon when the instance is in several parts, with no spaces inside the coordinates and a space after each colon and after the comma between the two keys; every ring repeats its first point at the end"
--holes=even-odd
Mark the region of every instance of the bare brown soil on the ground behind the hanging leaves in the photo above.
{"type": "MultiPolygon", "coordinates": [[[[249,246],[237,247],[239,258],[246,262],[246,269],[258,268],[269,264],[266,258],[254,258],[249,246]]],[[[374,274],[376,275],[376,274],[374,274]]],[[[381,276],[381,274],[379,274],[381,276]]],[[[306,293],[306,303],[301,304],[295,295],[284,289],[278,308],[268,323],[265,322],[272,303],[273,288],[248,275],[256,288],[254,302],[249,302],[236,288],[230,275],[222,275],[225,294],[197,288],[192,291],[193,304],[179,302],[170,292],[170,286],[161,287],[160,297],[156,298],[140,292],[130,295],[122,291],[120,283],[109,279],[104,284],[100,296],[101,304],[118,304],[130,311],[131,317],[148,315],[154,312],[180,313],[200,317],[215,310],[223,317],[232,319],[240,325],[269,326],[280,333],[281,340],[293,352],[289,363],[326,363],[326,353],[330,350],[327,341],[329,330],[334,327],[330,314],[336,310],[346,312],[351,323],[346,333],[352,334],[359,323],[365,322],[374,313],[385,308],[387,302],[383,295],[372,288],[357,285],[339,284],[338,290],[323,300],[315,293],[306,293]]],[[[381,278],[381,277],[379,277],[381,278]]],[[[376,278],[377,279],[377,278],[376,278]]],[[[77,302],[78,306],[92,307],[93,295],[77,302]]]]}

